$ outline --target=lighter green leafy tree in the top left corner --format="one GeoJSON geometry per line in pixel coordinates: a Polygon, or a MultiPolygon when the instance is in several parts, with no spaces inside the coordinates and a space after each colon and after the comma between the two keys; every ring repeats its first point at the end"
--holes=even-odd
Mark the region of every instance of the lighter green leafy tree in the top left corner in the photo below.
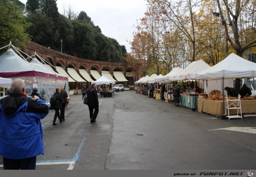
{"type": "Polygon", "coordinates": [[[30,23],[22,15],[25,5],[16,5],[18,8],[14,5],[11,1],[0,0],[0,46],[6,46],[12,41],[16,47],[25,49],[25,44],[30,40],[25,30],[30,23]]]}

